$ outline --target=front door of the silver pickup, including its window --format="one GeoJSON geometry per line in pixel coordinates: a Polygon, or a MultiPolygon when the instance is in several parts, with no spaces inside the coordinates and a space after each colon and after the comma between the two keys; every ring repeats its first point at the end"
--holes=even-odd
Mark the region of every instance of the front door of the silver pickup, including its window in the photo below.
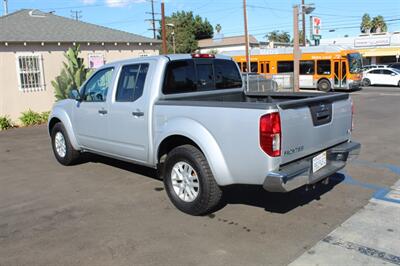
{"type": "Polygon", "coordinates": [[[73,125],[82,147],[105,151],[107,146],[107,94],[113,79],[113,68],[96,72],[81,90],[82,101],[73,110],[73,125]]]}

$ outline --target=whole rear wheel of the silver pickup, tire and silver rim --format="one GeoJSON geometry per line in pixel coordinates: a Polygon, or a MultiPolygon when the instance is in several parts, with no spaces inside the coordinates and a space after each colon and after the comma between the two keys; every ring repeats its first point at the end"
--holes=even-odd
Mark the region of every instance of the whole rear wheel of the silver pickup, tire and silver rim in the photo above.
{"type": "Polygon", "coordinates": [[[222,198],[207,159],[192,145],[173,149],[168,154],[164,173],[168,197],[184,213],[207,214],[222,198]]]}

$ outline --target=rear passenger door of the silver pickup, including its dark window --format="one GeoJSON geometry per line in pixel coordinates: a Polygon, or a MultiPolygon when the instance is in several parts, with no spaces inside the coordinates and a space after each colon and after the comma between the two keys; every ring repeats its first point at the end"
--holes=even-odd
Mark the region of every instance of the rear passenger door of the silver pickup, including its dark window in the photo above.
{"type": "Polygon", "coordinates": [[[146,163],[148,161],[149,63],[123,65],[110,104],[109,152],[146,163]]]}

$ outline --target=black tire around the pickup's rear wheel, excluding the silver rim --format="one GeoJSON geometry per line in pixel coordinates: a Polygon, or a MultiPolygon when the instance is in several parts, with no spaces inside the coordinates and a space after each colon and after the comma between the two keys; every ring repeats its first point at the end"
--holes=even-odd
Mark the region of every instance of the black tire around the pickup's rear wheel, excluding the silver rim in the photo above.
{"type": "Polygon", "coordinates": [[[222,190],[214,176],[204,154],[192,145],[182,145],[173,149],[167,157],[164,171],[164,186],[168,197],[176,208],[190,215],[205,215],[214,210],[222,198],[222,190]],[[198,194],[191,202],[184,201],[175,192],[172,185],[172,171],[177,163],[189,164],[197,174],[198,194]]]}

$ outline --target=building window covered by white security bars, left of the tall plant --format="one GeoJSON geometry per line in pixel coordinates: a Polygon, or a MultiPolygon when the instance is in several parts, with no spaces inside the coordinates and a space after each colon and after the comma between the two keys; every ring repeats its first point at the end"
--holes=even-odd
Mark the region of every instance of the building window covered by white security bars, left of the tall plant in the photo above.
{"type": "Polygon", "coordinates": [[[40,54],[17,55],[19,89],[44,90],[43,67],[40,54]]]}

